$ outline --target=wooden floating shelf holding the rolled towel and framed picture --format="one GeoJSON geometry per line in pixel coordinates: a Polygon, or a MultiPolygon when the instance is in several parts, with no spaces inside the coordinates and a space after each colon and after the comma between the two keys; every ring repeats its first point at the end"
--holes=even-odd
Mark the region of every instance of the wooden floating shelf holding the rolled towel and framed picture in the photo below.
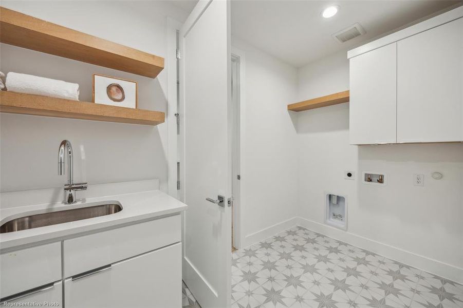
{"type": "Polygon", "coordinates": [[[143,125],[164,123],[164,112],[0,91],[0,112],[143,125]]]}

